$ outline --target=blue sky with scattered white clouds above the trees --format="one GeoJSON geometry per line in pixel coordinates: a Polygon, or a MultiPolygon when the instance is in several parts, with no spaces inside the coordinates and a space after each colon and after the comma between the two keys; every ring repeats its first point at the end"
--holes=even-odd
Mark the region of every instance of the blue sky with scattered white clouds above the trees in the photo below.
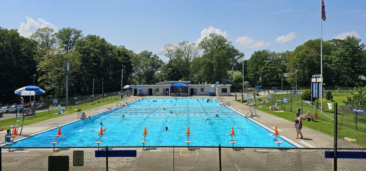
{"type": "MultiPolygon", "coordinates": [[[[323,39],[354,35],[365,42],[365,7],[364,0],[325,0],[323,39]]],[[[135,53],[155,54],[165,44],[199,42],[216,33],[247,59],[256,50],[291,51],[320,38],[320,12],[321,0],[2,1],[0,27],[25,37],[40,27],[71,27],[135,53]]]]}

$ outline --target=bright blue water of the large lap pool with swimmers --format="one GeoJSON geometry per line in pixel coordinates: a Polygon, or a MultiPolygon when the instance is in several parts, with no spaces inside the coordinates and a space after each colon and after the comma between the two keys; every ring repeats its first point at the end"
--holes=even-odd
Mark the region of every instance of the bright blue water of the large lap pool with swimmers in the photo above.
{"type": "MultiPolygon", "coordinates": [[[[221,107],[219,102],[206,102],[207,98],[197,101],[196,98],[154,98],[143,99],[118,107],[113,110],[97,114],[91,119],[83,119],[61,127],[60,137],[56,146],[94,146],[99,140],[97,135],[100,130],[100,122],[107,136],[102,137],[104,145],[142,145],[144,126],[147,128],[146,145],[187,145],[184,141],[187,136],[186,128],[189,126],[192,143],[198,146],[231,146],[231,126],[234,126],[235,146],[247,147],[277,147],[273,136],[268,130],[256,123],[245,119],[228,107],[221,107]],[[157,102],[152,102],[157,100],[157,102]],[[165,108],[165,110],[163,109],[165,108]],[[170,112],[173,112],[172,114],[170,112]],[[219,117],[214,117],[219,114],[219,117]],[[122,115],[125,115],[122,117],[122,115]],[[206,120],[206,116],[209,120],[206,120]],[[168,130],[165,131],[165,127],[168,130]]],[[[57,129],[20,140],[12,146],[51,146],[49,142],[55,141],[57,129]]],[[[295,147],[289,142],[282,141],[281,147],[295,147]]]]}

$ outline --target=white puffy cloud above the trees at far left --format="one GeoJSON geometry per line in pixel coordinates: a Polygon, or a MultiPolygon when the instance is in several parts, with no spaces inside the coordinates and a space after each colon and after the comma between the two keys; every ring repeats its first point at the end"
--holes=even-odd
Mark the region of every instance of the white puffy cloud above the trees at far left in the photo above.
{"type": "Polygon", "coordinates": [[[18,30],[18,32],[21,36],[29,37],[34,32],[36,32],[38,28],[43,28],[43,27],[53,28],[53,30],[56,31],[56,26],[54,26],[53,24],[51,24],[49,22],[46,22],[44,19],[38,18],[38,22],[37,22],[33,18],[29,18],[27,16],[25,18],[27,18],[27,23],[20,23],[19,30],[18,30]]]}

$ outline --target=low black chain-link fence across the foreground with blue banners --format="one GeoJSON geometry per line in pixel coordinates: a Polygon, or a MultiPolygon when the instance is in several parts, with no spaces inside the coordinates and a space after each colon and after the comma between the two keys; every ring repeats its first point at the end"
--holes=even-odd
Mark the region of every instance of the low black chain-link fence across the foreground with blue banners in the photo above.
{"type": "MultiPolygon", "coordinates": [[[[78,171],[335,170],[334,159],[326,157],[332,148],[145,146],[145,150],[142,147],[101,147],[99,151],[96,147],[58,147],[56,151],[52,147],[11,147],[11,152],[1,147],[0,150],[3,171],[48,170],[49,166],[60,169],[64,165],[68,170],[78,171]],[[82,157],[75,156],[76,164],[82,166],[74,166],[74,151],[83,151],[82,157]]],[[[338,159],[337,169],[364,170],[363,161],[338,159]]]]}

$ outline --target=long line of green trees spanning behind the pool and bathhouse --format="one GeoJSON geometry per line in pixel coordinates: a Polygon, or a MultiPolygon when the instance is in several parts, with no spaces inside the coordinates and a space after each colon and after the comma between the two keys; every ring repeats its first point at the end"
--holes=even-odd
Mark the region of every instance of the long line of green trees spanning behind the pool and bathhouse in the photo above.
{"type": "MultiPolygon", "coordinates": [[[[293,51],[258,50],[247,60],[231,41],[210,34],[201,42],[182,41],[166,44],[158,54],[149,50],[135,53],[120,45],[112,45],[98,35],[83,35],[76,28],[39,28],[30,38],[16,29],[0,27],[0,102],[14,102],[14,90],[23,86],[41,87],[46,94],[37,98],[65,97],[64,58],[68,58],[69,96],[119,91],[121,70],[123,85],[154,84],[164,80],[190,80],[191,83],[232,84],[242,88],[244,80],[251,84],[284,86],[295,84],[297,64],[298,86],[309,86],[311,75],[320,73],[320,39],[309,40],[293,51]],[[158,55],[167,57],[164,62],[158,55]],[[244,64],[244,71],[242,65],[244,64]],[[35,76],[34,76],[35,75],[35,76]]],[[[326,86],[363,86],[359,75],[365,74],[365,44],[356,37],[323,42],[323,75],[326,86]]]]}

